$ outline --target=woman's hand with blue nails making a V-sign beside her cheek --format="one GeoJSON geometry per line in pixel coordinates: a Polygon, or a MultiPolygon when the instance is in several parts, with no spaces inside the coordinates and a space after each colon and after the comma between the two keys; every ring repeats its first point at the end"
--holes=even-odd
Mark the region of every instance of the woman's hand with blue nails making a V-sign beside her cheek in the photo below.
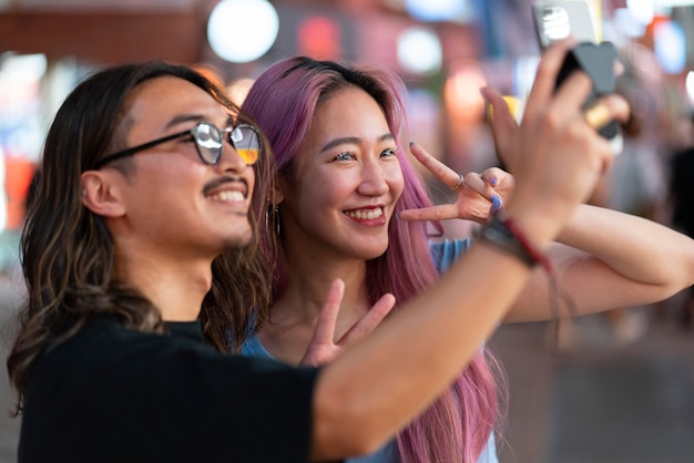
{"type": "Polygon", "coordinates": [[[462,218],[486,224],[489,215],[503,207],[513,192],[513,176],[498,167],[490,167],[478,174],[465,176],[427,153],[421,146],[410,145],[412,155],[438,179],[458,193],[453,204],[439,204],[420,209],[402,210],[402,220],[447,220],[462,218]]]}

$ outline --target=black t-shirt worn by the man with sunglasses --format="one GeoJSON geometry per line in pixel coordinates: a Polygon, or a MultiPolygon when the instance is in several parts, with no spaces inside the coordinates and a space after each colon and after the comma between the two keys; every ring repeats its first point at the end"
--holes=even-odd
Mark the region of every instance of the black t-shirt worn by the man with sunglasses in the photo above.
{"type": "Polygon", "coordinates": [[[316,369],[224,356],[103,317],[32,372],[19,462],[306,462],[316,369]]]}

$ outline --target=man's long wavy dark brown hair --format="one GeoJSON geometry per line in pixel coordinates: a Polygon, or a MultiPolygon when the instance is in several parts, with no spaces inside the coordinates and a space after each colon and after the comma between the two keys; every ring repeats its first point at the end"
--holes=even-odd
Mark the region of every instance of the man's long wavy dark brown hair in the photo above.
{"type": "MultiPolygon", "coordinates": [[[[160,310],[137,290],[114,279],[113,240],[102,217],[83,206],[80,186],[84,171],[125,147],[124,104],[133,89],[161,76],[186,80],[229,114],[238,115],[224,90],[208,79],[187,66],[159,61],[100,71],[68,96],[49,130],[22,230],[21,264],[28,296],[7,362],[10,381],[19,392],[18,412],[37,359],[74,336],[94,315],[113,313],[131,329],[165,332],[160,310]]],[[[257,194],[264,195],[254,192],[257,194]]],[[[249,220],[255,226],[252,213],[249,220]]],[[[201,320],[206,340],[221,351],[238,349],[249,308],[267,303],[266,270],[255,256],[254,239],[212,265],[213,285],[201,320]],[[229,336],[229,327],[237,327],[238,332],[229,336]]]]}

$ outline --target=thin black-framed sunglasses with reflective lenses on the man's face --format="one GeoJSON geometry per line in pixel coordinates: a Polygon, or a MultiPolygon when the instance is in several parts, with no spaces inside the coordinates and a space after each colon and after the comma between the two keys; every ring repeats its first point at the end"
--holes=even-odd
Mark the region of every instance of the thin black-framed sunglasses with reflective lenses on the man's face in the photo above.
{"type": "Polygon", "coordinates": [[[205,164],[215,165],[222,157],[222,146],[224,145],[223,136],[225,134],[246,165],[255,164],[261,155],[261,135],[257,128],[249,124],[238,124],[235,127],[220,130],[210,122],[201,122],[187,131],[174,133],[162,138],[153,140],[152,142],[143,143],[142,145],[113,153],[101,160],[95,168],[101,168],[113,161],[184,136],[191,136],[193,138],[197,154],[205,164]]]}

